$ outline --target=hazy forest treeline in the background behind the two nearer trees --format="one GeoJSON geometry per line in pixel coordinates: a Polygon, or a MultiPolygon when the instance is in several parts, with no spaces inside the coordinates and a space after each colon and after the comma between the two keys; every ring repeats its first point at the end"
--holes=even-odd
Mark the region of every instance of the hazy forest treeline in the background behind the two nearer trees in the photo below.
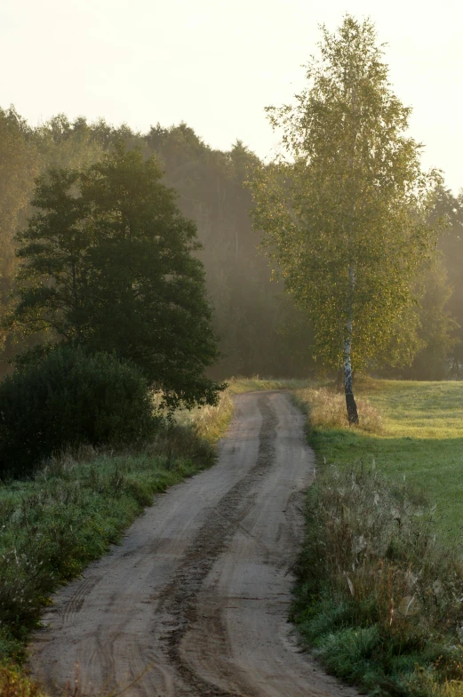
{"type": "MultiPolygon", "coordinates": [[[[147,133],[105,121],[89,124],[56,116],[31,127],[14,108],[0,109],[0,304],[12,307],[16,234],[33,209],[30,200],[36,177],[52,168],[81,168],[100,161],[117,142],[155,155],[164,183],[178,194],[177,204],[195,220],[203,249],[207,292],[214,308],[214,330],[221,357],[211,369],[220,379],[232,374],[307,375],[315,370],[311,357],[313,332],[304,314],[271,282],[267,260],[259,253],[259,234],[251,230],[251,192],[244,186],[259,163],[239,140],[223,152],[210,148],[188,127],[157,124],[147,133]]],[[[438,250],[420,275],[419,350],[410,366],[372,366],[395,377],[440,380],[459,377],[463,367],[463,197],[445,188],[437,192],[435,218],[448,227],[438,250]]],[[[3,362],[24,348],[24,339],[4,331],[3,362]],[[22,343],[21,343],[22,342],[22,343]]],[[[30,340],[29,340],[30,341],[30,340]]]]}

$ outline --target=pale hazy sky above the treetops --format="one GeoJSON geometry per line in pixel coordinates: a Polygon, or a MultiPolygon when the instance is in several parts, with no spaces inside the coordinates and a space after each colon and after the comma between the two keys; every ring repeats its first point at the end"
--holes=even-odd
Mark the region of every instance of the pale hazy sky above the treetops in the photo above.
{"type": "Polygon", "coordinates": [[[463,4],[440,0],[0,0],[0,106],[32,124],[64,112],[145,131],[186,121],[213,148],[271,156],[264,107],[291,100],[345,12],[386,41],[423,162],[463,187],[463,4]]]}

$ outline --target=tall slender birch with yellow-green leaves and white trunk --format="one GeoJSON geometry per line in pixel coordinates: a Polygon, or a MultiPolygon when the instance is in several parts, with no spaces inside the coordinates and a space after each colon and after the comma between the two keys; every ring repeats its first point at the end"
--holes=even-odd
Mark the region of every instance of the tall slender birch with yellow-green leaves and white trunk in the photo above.
{"type": "Polygon", "coordinates": [[[411,108],[391,89],[371,22],[347,15],[336,33],[322,32],[295,104],[267,108],[283,130],[283,153],[255,172],[254,226],[312,319],[315,357],[344,365],[355,424],[353,369],[385,350],[413,302],[440,175],[421,170],[421,146],[406,134],[411,108]]]}

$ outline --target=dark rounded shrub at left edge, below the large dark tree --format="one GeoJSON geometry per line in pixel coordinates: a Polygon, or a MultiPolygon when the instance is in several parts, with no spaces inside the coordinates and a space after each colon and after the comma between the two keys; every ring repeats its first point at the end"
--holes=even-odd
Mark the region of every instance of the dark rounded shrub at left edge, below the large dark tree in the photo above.
{"type": "Polygon", "coordinates": [[[0,384],[0,475],[28,475],[68,446],[137,442],[155,426],[148,382],[137,367],[83,348],[56,348],[0,384]]]}

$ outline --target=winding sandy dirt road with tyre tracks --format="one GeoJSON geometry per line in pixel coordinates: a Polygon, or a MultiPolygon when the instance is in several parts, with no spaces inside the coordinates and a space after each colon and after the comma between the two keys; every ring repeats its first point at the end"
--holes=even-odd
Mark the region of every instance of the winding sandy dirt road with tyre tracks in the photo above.
{"type": "Polygon", "coordinates": [[[235,397],[219,464],[172,487],[55,597],[30,668],[51,690],[128,697],[344,697],[299,653],[288,568],[313,477],[281,392],[235,397]]]}

